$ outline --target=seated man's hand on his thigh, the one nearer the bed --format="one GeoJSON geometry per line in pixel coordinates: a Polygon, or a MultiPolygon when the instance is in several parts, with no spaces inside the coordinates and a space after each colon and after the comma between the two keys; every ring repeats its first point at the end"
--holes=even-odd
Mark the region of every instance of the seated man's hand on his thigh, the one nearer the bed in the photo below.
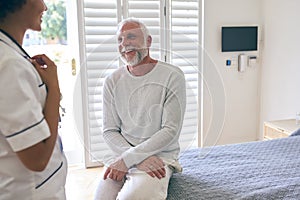
{"type": "Polygon", "coordinates": [[[151,177],[157,177],[159,179],[166,176],[165,164],[157,156],[150,156],[146,158],[143,162],[137,165],[139,170],[145,171],[151,177]]]}

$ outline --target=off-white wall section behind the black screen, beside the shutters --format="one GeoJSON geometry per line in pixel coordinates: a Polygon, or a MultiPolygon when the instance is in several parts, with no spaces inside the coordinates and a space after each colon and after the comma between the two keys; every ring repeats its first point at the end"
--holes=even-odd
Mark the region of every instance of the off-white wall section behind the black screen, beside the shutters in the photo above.
{"type": "Polygon", "coordinates": [[[258,138],[260,67],[237,71],[221,52],[222,25],[261,25],[261,0],[205,0],[204,5],[204,145],[258,138]],[[222,123],[224,122],[224,123],[222,123]]]}

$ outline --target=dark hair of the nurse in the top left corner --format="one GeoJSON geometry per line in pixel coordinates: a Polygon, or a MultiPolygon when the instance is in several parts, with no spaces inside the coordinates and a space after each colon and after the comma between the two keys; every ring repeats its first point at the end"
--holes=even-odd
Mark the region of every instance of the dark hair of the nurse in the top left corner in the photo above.
{"type": "MultiPolygon", "coordinates": [[[[0,0],[0,21],[20,9],[27,0],[0,0]]],[[[24,16],[25,17],[25,16],[24,16]]]]}

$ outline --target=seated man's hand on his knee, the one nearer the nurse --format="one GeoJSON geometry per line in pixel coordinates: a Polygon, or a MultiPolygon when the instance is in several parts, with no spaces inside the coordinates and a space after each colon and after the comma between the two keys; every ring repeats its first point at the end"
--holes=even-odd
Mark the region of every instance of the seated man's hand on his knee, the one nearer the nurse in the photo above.
{"type": "Polygon", "coordinates": [[[126,167],[123,159],[119,159],[106,169],[103,178],[104,180],[108,177],[115,181],[122,181],[127,172],[128,168],[126,167]]]}

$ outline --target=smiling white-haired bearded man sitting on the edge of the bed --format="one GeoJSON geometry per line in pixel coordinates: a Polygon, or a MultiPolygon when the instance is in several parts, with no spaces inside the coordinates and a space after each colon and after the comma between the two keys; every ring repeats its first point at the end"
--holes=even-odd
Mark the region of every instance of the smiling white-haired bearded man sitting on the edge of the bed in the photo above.
{"type": "Polygon", "coordinates": [[[104,83],[103,137],[111,153],[95,199],[166,199],[172,173],[181,170],[184,74],[150,57],[152,37],[141,21],[123,20],[117,38],[125,65],[104,83]]]}

